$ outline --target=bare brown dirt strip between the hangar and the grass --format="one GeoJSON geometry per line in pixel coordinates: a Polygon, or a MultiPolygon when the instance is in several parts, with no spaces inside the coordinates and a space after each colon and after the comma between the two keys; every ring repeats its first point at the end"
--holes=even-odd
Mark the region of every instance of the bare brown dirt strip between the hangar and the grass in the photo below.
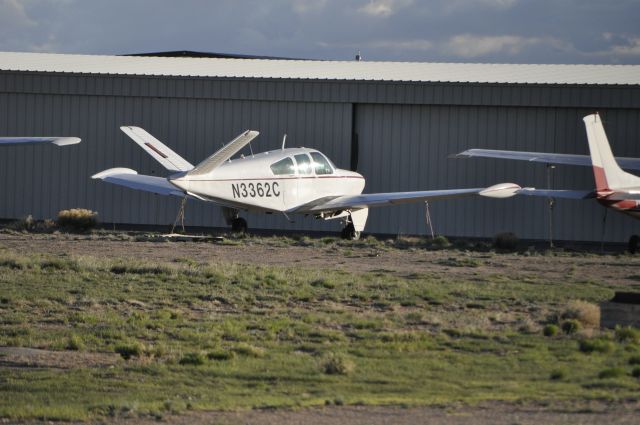
{"type": "Polygon", "coordinates": [[[18,253],[68,254],[89,257],[127,257],[145,262],[235,262],[307,268],[339,268],[349,272],[384,270],[399,275],[430,272],[452,276],[509,273],[561,280],[571,273],[576,280],[606,280],[626,287],[638,284],[640,255],[607,255],[587,252],[544,255],[494,254],[490,252],[386,249],[384,246],[298,246],[281,240],[257,238],[237,245],[211,242],[136,242],[95,236],[0,233],[0,247],[18,253]],[[452,257],[474,261],[473,267],[456,267],[452,257]]]}

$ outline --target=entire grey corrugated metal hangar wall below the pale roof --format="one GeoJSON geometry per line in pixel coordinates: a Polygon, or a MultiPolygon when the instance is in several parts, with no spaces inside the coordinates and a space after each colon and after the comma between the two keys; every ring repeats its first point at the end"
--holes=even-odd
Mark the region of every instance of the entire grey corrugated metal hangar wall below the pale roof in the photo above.
{"type": "MultiPolygon", "coordinates": [[[[352,108],[359,135],[359,170],[366,192],[486,186],[501,181],[546,186],[541,164],[447,156],[471,147],[587,153],[582,116],[599,109],[618,156],[640,156],[637,87],[496,86],[335,81],[238,81],[156,77],[41,75],[0,72],[0,135],[73,135],[67,148],[8,147],[0,151],[0,217],[53,217],[86,207],[105,222],[168,224],[179,199],[91,180],[122,166],[165,175],[129,140],[121,125],[146,128],[197,162],[247,128],[261,135],[254,151],[314,147],[338,166],[350,163],[352,108]],[[355,107],[352,105],[355,104],[355,107]],[[604,107],[607,107],[606,109],[604,107]],[[35,170],[35,171],[34,171],[35,170]]],[[[245,150],[248,154],[249,150],[245,150]]],[[[559,167],[555,188],[589,189],[590,170],[559,167]]],[[[558,239],[599,240],[603,208],[559,201],[558,239]]],[[[545,200],[451,200],[431,203],[436,231],[493,236],[515,231],[544,239],[545,200]]],[[[250,214],[254,228],[334,231],[336,222],[250,214]]],[[[191,202],[187,224],[223,226],[218,209],[191,202]]],[[[606,239],[640,233],[639,222],[609,214],[606,239]]],[[[367,231],[425,233],[424,206],[374,209],[367,231]]]]}

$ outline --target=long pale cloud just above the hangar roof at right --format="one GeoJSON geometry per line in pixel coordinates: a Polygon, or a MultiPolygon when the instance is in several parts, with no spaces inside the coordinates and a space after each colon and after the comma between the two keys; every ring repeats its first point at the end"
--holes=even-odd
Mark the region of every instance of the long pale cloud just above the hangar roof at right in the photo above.
{"type": "Polygon", "coordinates": [[[449,38],[444,48],[456,56],[477,58],[495,53],[517,55],[532,46],[546,45],[556,49],[568,49],[566,43],[551,37],[522,37],[518,35],[478,36],[460,34],[449,38]]]}

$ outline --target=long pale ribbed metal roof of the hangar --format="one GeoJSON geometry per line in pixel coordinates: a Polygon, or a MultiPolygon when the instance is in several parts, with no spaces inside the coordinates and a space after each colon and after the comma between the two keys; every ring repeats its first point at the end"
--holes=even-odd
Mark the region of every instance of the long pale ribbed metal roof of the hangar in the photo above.
{"type": "Polygon", "coordinates": [[[0,70],[213,78],[640,85],[640,65],[357,62],[0,52],[0,70]]]}

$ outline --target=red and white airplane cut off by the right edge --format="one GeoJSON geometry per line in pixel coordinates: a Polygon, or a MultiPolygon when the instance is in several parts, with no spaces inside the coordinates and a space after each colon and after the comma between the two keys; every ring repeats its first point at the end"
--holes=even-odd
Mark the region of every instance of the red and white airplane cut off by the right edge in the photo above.
{"type": "MultiPolygon", "coordinates": [[[[547,164],[570,164],[593,167],[595,190],[544,190],[523,188],[517,190],[519,195],[542,196],[545,198],[596,199],[606,208],[640,218],[640,177],[623,171],[623,168],[640,170],[640,158],[615,158],[611,151],[607,134],[602,126],[600,115],[591,114],[583,118],[589,156],[566,155],[539,152],[493,151],[487,149],[470,149],[459,153],[457,157],[487,157],[502,159],[518,159],[544,162],[547,164]]],[[[629,239],[629,250],[638,249],[640,237],[633,235],[629,239]]]]}

